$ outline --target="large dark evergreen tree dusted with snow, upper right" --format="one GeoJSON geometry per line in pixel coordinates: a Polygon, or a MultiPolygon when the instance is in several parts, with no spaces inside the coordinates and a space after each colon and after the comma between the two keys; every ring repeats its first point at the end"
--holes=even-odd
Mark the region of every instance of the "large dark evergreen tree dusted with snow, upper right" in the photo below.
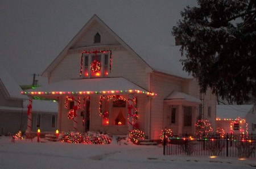
{"type": "Polygon", "coordinates": [[[197,0],[172,28],[183,69],[222,99],[242,104],[256,96],[256,1],[197,0]]]}

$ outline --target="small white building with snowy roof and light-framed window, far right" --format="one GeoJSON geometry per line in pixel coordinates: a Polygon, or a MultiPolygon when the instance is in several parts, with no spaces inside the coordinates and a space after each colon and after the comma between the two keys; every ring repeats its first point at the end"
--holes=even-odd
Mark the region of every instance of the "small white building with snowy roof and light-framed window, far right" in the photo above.
{"type": "Polygon", "coordinates": [[[255,106],[216,105],[216,127],[229,134],[256,134],[255,106]]]}

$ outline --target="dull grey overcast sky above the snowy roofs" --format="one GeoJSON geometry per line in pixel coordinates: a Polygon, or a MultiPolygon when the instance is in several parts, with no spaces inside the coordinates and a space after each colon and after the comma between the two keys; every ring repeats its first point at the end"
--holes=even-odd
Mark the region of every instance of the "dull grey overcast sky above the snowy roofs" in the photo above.
{"type": "MultiPolygon", "coordinates": [[[[18,84],[32,84],[32,74],[42,74],[94,14],[114,24],[119,24],[115,17],[122,18],[135,28],[143,28],[142,16],[152,23],[167,18],[175,25],[180,11],[191,4],[196,2],[0,0],[0,62],[18,84]]],[[[37,78],[46,84],[46,78],[37,78]]]]}

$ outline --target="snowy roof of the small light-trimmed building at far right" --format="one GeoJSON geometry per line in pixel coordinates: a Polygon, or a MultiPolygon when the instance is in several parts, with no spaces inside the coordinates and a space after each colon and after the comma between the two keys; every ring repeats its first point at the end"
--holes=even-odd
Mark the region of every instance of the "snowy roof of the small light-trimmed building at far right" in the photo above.
{"type": "Polygon", "coordinates": [[[216,105],[217,119],[236,119],[237,117],[245,118],[247,113],[254,107],[249,105],[216,105]]]}

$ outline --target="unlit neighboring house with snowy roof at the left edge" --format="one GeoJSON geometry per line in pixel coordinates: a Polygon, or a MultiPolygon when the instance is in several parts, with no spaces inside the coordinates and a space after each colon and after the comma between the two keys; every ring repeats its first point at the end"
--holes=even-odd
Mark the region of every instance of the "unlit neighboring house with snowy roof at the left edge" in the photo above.
{"type": "MultiPolygon", "coordinates": [[[[15,79],[0,64],[0,134],[15,134],[27,129],[28,97],[20,95],[22,89],[15,79]]],[[[34,100],[32,131],[56,130],[57,103],[34,100]]]]}

